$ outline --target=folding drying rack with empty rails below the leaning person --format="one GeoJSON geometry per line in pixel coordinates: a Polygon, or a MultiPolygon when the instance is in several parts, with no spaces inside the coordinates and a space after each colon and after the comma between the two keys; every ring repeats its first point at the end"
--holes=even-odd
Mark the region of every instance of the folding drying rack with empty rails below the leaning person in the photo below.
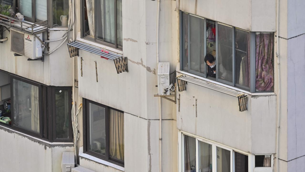
{"type": "Polygon", "coordinates": [[[218,92],[222,92],[222,93],[227,94],[227,95],[237,97],[238,98],[239,111],[242,112],[242,111],[248,110],[248,95],[239,94],[237,92],[233,92],[233,91],[221,88],[221,87],[217,87],[215,85],[208,84],[208,83],[205,83],[205,82],[202,82],[202,81],[199,81],[199,80],[195,80],[193,78],[186,77],[186,76],[183,76],[183,75],[180,75],[180,76],[177,77],[179,92],[182,92],[182,91],[186,90],[186,84],[188,82],[192,83],[192,84],[202,86],[202,87],[205,87],[205,88],[209,88],[209,89],[212,89],[212,90],[215,90],[215,91],[218,91],[218,92]]]}

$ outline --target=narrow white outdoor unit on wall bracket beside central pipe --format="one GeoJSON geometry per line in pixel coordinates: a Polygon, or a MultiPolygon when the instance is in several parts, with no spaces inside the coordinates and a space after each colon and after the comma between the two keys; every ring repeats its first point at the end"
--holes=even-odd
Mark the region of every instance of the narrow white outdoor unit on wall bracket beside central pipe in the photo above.
{"type": "Polygon", "coordinates": [[[170,90],[164,90],[170,86],[170,62],[159,62],[158,64],[158,94],[170,95],[170,90]]]}

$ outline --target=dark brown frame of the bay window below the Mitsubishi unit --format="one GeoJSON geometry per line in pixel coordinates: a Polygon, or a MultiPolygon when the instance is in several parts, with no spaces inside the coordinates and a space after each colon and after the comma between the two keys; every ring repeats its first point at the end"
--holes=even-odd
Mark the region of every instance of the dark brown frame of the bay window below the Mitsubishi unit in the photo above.
{"type": "MultiPolygon", "coordinates": [[[[55,139],[56,137],[53,138],[53,126],[55,124],[56,121],[53,120],[53,117],[55,117],[55,115],[53,115],[52,113],[52,109],[53,107],[55,108],[55,104],[53,103],[53,95],[52,95],[52,89],[56,89],[56,88],[65,88],[65,89],[70,89],[71,93],[69,92],[69,100],[71,99],[72,96],[72,87],[56,87],[56,86],[47,86],[45,84],[41,84],[38,83],[34,80],[30,80],[24,77],[20,77],[18,75],[15,75],[13,73],[9,73],[6,71],[3,71],[0,69],[0,72],[2,73],[7,73],[9,74],[9,81],[10,81],[10,99],[11,99],[11,125],[9,124],[5,124],[0,122],[0,125],[2,126],[6,126],[9,127],[11,129],[14,129],[16,131],[20,131],[22,133],[25,134],[29,134],[31,136],[40,138],[42,140],[45,141],[49,141],[49,142],[72,142],[73,141],[73,132],[72,132],[72,119],[69,116],[69,126],[71,127],[69,130],[69,136],[70,139],[55,139]],[[22,127],[16,126],[14,125],[14,118],[15,118],[15,114],[14,114],[14,97],[13,97],[13,79],[16,79],[18,81],[22,81],[34,86],[38,86],[38,96],[39,96],[39,133],[35,133],[33,131],[24,129],[22,127]],[[71,95],[71,96],[70,96],[71,95]],[[53,124],[54,123],[54,124],[53,124]]],[[[54,95],[55,96],[55,95],[54,95]]],[[[72,100],[70,101],[72,102],[72,100]]],[[[69,114],[71,114],[71,109],[72,109],[72,104],[69,103],[70,107],[69,107],[69,114]]],[[[55,131],[55,130],[54,130],[55,131]]]]}

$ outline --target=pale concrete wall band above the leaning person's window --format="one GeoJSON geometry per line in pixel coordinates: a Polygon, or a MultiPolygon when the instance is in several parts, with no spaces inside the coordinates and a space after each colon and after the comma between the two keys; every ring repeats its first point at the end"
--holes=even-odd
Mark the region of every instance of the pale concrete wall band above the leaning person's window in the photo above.
{"type": "Polygon", "coordinates": [[[182,11],[248,31],[274,32],[276,30],[275,0],[177,0],[176,2],[182,11]]]}

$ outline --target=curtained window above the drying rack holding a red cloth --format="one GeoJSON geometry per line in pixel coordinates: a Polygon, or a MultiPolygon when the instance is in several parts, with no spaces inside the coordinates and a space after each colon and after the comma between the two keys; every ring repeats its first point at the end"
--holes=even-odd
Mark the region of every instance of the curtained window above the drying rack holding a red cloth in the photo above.
{"type": "Polygon", "coordinates": [[[82,2],[82,37],[122,49],[122,0],[82,2]]]}

